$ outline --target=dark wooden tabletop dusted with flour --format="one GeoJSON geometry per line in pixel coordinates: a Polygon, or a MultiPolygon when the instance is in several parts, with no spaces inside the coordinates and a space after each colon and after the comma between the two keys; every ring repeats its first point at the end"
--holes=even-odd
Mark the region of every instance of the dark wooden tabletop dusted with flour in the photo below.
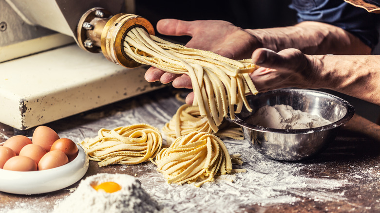
{"type": "MultiPolygon", "coordinates": [[[[174,98],[178,91],[183,92],[160,89],[46,125],[75,142],[95,137],[102,127],[147,123],[161,129],[182,105],[174,98]]],[[[0,126],[0,142],[13,134],[10,126],[0,126]]],[[[133,175],[166,212],[380,212],[380,126],[358,115],[342,126],[322,154],[310,160],[269,160],[245,141],[225,143],[230,154],[242,154],[244,164],[239,168],[247,169],[247,173],[223,177],[233,182],[219,178],[200,188],[170,185],[151,162],[100,168],[90,161],[83,178],[97,173],[133,175]]],[[[0,212],[52,212],[78,184],[42,195],[0,192],[0,212]]]]}

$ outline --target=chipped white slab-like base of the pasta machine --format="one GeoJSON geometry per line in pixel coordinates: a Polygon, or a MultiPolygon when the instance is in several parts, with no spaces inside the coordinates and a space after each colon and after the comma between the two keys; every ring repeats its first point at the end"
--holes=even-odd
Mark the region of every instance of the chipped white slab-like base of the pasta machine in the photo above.
{"type": "Polygon", "coordinates": [[[19,130],[104,106],[163,85],[74,45],[0,64],[0,123],[19,130]]]}

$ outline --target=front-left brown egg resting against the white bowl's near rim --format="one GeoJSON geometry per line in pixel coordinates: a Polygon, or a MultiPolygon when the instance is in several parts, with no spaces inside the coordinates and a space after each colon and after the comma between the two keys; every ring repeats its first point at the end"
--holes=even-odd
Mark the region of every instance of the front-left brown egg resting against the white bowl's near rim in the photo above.
{"type": "Polygon", "coordinates": [[[15,156],[7,160],[3,169],[12,171],[36,171],[37,163],[25,156],[15,156]]]}

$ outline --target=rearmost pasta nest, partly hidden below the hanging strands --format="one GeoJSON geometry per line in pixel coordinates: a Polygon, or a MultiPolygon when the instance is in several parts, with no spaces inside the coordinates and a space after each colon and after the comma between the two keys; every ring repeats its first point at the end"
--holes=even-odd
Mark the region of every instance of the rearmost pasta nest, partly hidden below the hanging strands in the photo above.
{"type": "Polygon", "coordinates": [[[219,131],[215,133],[211,129],[207,118],[201,116],[199,107],[187,104],[178,108],[170,122],[166,123],[162,128],[162,131],[167,135],[166,141],[168,144],[176,138],[194,131],[212,133],[221,138],[244,139],[242,129],[232,122],[228,122],[226,119],[222,121],[222,124],[219,126],[219,131]]]}

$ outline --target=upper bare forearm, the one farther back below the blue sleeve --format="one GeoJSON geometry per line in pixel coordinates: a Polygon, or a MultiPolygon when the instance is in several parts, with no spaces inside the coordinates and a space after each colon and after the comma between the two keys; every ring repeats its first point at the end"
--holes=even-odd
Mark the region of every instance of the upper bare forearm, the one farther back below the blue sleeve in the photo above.
{"type": "Polygon", "coordinates": [[[295,26],[247,29],[262,47],[279,52],[296,48],[305,54],[369,54],[371,48],[342,28],[315,21],[295,26]]]}

